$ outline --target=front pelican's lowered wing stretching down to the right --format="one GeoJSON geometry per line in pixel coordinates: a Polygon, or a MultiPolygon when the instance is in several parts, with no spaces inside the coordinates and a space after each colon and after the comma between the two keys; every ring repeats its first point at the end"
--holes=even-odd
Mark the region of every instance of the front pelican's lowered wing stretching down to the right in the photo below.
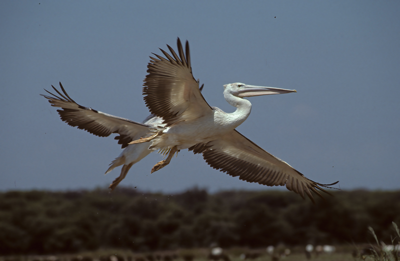
{"type": "Polygon", "coordinates": [[[241,180],[267,186],[286,185],[288,190],[294,191],[302,198],[305,193],[312,202],[314,199],[311,191],[322,197],[316,189],[328,193],[321,187],[337,183],[325,185],[307,179],[289,164],[264,151],[236,130],[206,144],[196,144],[189,150],[202,153],[212,168],[230,176],[239,176],[241,180]]]}

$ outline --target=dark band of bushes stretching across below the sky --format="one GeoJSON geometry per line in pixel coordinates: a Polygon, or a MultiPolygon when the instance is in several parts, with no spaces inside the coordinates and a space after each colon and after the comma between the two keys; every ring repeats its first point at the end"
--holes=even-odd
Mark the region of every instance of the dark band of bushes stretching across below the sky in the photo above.
{"type": "Polygon", "coordinates": [[[292,192],[192,189],[0,193],[0,254],[391,242],[400,191],[337,191],[313,205],[292,192]]]}

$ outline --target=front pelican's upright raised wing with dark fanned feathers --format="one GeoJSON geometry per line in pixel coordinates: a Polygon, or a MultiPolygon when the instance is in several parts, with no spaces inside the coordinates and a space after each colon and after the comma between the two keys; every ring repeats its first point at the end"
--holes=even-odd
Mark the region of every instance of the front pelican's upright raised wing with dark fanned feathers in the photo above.
{"type": "Polygon", "coordinates": [[[160,49],[166,58],[153,53],[158,59],[150,56],[147,65],[143,99],[150,112],[161,117],[167,126],[212,113],[191,73],[189,43],[186,41],[186,57],[179,38],[179,56],[167,46],[173,57],[160,49]]]}

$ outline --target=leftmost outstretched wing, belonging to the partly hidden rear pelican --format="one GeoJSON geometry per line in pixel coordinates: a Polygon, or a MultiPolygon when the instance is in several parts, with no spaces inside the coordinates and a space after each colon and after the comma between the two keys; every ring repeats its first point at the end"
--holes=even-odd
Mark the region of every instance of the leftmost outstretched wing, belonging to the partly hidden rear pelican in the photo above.
{"type": "Polygon", "coordinates": [[[68,96],[61,83],[59,83],[59,86],[63,94],[51,85],[60,97],[47,90],[45,91],[52,96],[40,95],[48,99],[51,106],[62,109],[57,110],[57,112],[61,120],[70,126],[86,130],[99,137],[107,137],[111,133],[118,133],[119,136],[114,139],[118,140],[118,144],[121,144],[122,148],[125,148],[129,142],[140,139],[150,131],[151,126],[149,125],[83,107],[68,96]]]}

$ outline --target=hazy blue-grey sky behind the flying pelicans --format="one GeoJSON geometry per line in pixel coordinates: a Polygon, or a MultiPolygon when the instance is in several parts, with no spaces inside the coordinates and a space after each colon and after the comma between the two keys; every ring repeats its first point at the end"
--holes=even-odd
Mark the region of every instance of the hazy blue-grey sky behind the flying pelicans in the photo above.
{"type": "MultiPolygon", "coordinates": [[[[61,81],[77,103],[141,122],[151,52],[188,40],[211,106],[223,84],[296,89],[249,98],[237,129],[319,182],[400,189],[398,1],[0,1],[0,190],[106,188],[120,168],[113,137],[62,122],[39,94],[61,81]]],[[[181,151],[160,171],[152,153],[120,185],[271,189],[181,151]]]]}

